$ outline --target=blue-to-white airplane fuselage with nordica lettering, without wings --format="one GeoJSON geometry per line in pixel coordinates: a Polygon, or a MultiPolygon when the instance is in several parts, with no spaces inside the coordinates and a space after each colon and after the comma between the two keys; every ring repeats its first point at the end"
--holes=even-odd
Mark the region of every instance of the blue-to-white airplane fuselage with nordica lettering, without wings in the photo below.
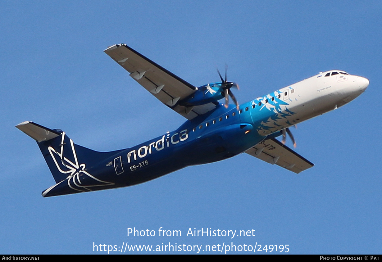
{"type": "MultiPolygon", "coordinates": [[[[234,105],[225,108],[219,104],[215,110],[186,121],[175,131],[114,151],[115,154],[93,161],[94,164],[84,154],[78,154],[83,147],[73,144],[76,170],[70,173],[62,168],[61,173],[71,175],[42,194],[55,196],[130,186],[190,165],[233,157],[267,137],[279,136],[283,129],[341,107],[362,94],[368,84],[366,78],[339,70],[320,73],[244,103],[239,110],[234,105]],[[86,169],[81,170],[80,163],[84,163],[83,167],[86,164],[86,169]]],[[[64,136],[60,146],[69,143],[64,136]]],[[[62,151],[51,147],[52,158],[56,155],[63,158],[62,151]]],[[[61,164],[56,161],[55,165],[59,168],[61,164]]],[[[55,165],[49,165],[51,171],[55,165]]]]}

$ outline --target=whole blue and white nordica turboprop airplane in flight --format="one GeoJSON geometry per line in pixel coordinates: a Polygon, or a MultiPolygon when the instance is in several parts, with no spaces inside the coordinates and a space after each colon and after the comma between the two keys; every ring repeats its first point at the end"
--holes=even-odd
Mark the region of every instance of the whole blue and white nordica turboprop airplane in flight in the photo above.
{"type": "Polygon", "coordinates": [[[18,124],[37,141],[56,182],[42,191],[43,197],[131,186],[241,153],[300,173],[313,163],[285,146],[287,134],[296,146],[289,128],[347,104],[369,85],[361,76],[330,70],[239,105],[231,91],[239,87],[227,81],[227,67],[224,78],[218,70],[220,82],[196,87],[126,44],[104,52],[187,120],[172,132],[111,152],[74,144],[61,129],[31,121],[18,124]],[[225,103],[219,103],[223,98],[225,103]]]}

